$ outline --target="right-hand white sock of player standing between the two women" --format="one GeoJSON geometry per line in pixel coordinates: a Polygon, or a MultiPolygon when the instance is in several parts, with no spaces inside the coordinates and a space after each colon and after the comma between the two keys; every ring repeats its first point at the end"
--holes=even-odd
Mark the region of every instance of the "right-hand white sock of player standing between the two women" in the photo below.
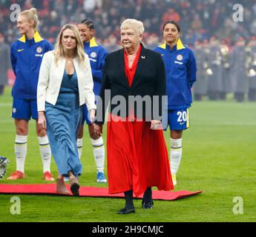
{"type": "Polygon", "coordinates": [[[95,159],[95,164],[98,172],[104,171],[104,161],[105,161],[105,146],[103,138],[100,137],[96,140],[91,139],[91,144],[93,145],[93,156],[95,159]]]}

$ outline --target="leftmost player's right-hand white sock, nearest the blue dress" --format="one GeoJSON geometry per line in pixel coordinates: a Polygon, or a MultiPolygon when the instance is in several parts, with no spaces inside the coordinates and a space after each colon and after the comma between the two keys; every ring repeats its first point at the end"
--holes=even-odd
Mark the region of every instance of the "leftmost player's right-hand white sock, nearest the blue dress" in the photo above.
{"type": "Polygon", "coordinates": [[[50,172],[50,144],[47,136],[38,137],[39,150],[42,157],[43,172],[50,172]]]}

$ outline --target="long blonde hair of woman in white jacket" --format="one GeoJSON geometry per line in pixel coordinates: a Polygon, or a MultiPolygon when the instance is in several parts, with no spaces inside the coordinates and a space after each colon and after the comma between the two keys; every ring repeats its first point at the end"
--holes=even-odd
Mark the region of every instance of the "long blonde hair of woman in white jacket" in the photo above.
{"type": "Polygon", "coordinates": [[[62,30],[59,33],[59,36],[56,40],[56,44],[54,47],[54,56],[55,56],[55,63],[56,65],[58,64],[59,59],[64,58],[65,57],[65,50],[64,47],[62,45],[62,36],[63,36],[63,32],[65,30],[72,30],[73,34],[76,37],[76,48],[75,48],[75,56],[78,56],[79,58],[79,62],[80,64],[82,64],[82,66],[85,67],[85,50],[84,50],[84,44],[82,43],[82,39],[79,35],[79,30],[76,27],[76,25],[74,24],[65,24],[64,27],[62,27],[62,30]]]}

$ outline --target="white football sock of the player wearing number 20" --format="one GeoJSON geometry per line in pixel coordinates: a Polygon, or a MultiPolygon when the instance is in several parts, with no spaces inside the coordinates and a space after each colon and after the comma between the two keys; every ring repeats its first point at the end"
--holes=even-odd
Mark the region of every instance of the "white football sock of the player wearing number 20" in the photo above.
{"type": "Polygon", "coordinates": [[[171,138],[171,152],[170,152],[170,165],[171,165],[171,174],[176,175],[179,167],[182,156],[182,141],[183,138],[173,139],[171,138]]]}

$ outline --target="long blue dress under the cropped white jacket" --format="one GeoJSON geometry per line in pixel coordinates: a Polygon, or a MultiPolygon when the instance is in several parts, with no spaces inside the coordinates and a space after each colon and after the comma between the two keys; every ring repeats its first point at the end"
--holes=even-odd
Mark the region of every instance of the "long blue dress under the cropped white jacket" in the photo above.
{"type": "Polygon", "coordinates": [[[76,71],[73,76],[64,73],[56,105],[45,103],[47,136],[53,158],[62,176],[72,171],[82,173],[76,147],[76,134],[81,124],[82,107],[79,107],[79,90],[76,71]]]}

